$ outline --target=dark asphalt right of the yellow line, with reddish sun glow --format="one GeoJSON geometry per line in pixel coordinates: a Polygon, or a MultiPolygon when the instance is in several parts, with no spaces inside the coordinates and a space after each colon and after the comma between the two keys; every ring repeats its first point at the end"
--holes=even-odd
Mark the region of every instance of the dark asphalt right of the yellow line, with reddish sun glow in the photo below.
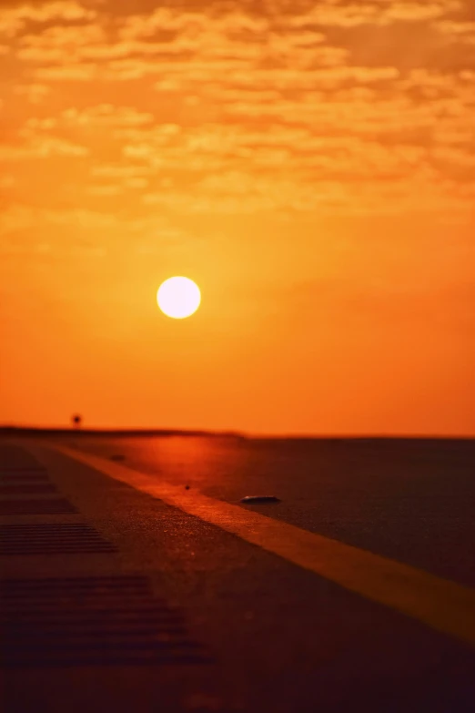
{"type": "Polygon", "coordinates": [[[475,440],[63,439],[292,525],[475,586],[475,440]]]}

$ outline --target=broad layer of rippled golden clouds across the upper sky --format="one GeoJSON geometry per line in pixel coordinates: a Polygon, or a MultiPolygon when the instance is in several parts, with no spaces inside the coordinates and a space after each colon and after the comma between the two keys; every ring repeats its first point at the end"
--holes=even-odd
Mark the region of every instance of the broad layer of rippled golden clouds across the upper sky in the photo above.
{"type": "Polygon", "coordinates": [[[24,23],[12,116],[39,106],[1,150],[64,158],[60,195],[137,213],[403,212],[416,194],[469,210],[475,75],[457,38],[473,22],[459,2],[57,5],[45,20],[9,8],[24,23]]]}

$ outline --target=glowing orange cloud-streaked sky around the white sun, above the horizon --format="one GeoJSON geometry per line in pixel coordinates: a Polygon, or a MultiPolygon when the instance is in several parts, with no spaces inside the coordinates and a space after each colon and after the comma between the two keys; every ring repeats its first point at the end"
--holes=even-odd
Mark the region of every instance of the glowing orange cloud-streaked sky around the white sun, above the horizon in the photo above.
{"type": "Polygon", "coordinates": [[[472,2],[2,2],[0,63],[0,423],[475,433],[472,2]]]}

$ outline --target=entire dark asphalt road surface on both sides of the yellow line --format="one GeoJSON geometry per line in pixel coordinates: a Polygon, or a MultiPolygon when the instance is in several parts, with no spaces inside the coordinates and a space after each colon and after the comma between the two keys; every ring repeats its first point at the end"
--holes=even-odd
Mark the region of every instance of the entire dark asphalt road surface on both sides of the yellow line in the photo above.
{"type": "Polygon", "coordinates": [[[440,614],[432,626],[375,585],[370,596],[339,585],[335,563],[298,565],[291,543],[256,545],[264,521],[252,519],[351,545],[349,557],[378,555],[375,569],[409,565],[434,583],[439,607],[436,585],[452,583],[470,630],[472,441],[73,434],[19,448],[0,444],[5,713],[475,709],[474,647],[460,626],[444,633],[440,614]],[[150,477],[190,505],[150,494],[150,477]],[[280,502],[241,504],[249,494],[280,502]],[[238,508],[226,513],[243,514],[239,528],[206,508],[191,514],[203,497],[216,513],[238,508]]]}

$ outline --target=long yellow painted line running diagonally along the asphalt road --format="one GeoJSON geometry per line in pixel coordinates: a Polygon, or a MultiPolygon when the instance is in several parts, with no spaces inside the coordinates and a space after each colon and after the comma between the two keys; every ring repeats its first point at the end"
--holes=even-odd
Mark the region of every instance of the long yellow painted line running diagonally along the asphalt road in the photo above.
{"type": "MultiPolygon", "coordinates": [[[[45,445],[42,443],[42,445],[45,445]]],[[[215,500],[89,453],[47,444],[102,474],[153,495],[253,545],[336,582],[444,634],[475,644],[475,589],[215,500]]]]}

